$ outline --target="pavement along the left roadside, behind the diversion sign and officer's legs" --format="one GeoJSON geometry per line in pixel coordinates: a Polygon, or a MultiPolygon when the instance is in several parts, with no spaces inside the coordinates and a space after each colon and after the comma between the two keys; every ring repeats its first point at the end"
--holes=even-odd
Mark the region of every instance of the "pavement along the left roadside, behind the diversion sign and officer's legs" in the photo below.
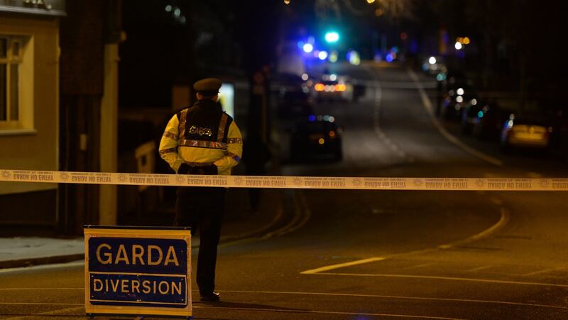
{"type": "MultiPolygon", "coordinates": [[[[281,190],[264,189],[256,212],[249,205],[248,189],[232,188],[227,193],[221,244],[230,245],[258,238],[278,228],[285,218],[281,190]]],[[[168,208],[167,210],[173,210],[168,208]]],[[[199,247],[199,235],[192,248],[199,247]]],[[[0,238],[0,269],[31,267],[84,259],[84,240],[78,238],[11,237],[0,238]]]]}

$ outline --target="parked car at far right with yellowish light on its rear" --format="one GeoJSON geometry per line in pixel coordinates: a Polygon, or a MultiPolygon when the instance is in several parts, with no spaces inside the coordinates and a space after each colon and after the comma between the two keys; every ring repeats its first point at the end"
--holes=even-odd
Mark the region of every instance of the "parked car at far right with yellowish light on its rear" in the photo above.
{"type": "Polygon", "coordinates": [[[518,117],[510,114],[501,130],[501,146],[545,149],[549,145],[552,127],[540,116],[518,117]]]}

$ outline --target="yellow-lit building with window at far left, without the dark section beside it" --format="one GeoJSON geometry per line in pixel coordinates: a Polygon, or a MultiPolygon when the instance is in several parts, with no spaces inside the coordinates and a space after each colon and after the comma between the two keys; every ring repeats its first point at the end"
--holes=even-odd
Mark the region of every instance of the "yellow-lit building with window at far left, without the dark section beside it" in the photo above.
{"type": "MultiPolygon", "coordinates": [[[[64,1],[0,0],[0,166],[58,170],[64,1]]],[[[0,183],[0,225],[55,228],[55,183],[0,183]],[[31,201],[33,198],[33,201],[31,201]]]]}

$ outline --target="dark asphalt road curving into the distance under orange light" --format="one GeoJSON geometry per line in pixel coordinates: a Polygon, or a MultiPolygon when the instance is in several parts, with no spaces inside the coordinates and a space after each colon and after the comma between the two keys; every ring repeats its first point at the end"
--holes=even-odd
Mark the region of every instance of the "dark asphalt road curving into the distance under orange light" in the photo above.
{"type": "MultiPolygon", "coordinates": [[[[567,176],[554,158],[503,156],[490,144],[471,149],[452,139],[428,111],[433,84],[421,75],[372,63],[332,71],[368,85],[358,103],[316,106],[344,127],[344,160],[286,164],[283,174],[567,176]]],[[[285,197],[301,223],[285,235],[224,245],[217,265],[223,301],[194,302],[196,319],[568,318],[564,193],[310,190],[285,197]]],[[[82,268],[0,272],[1,317],[81,316],[82,268]]]]}

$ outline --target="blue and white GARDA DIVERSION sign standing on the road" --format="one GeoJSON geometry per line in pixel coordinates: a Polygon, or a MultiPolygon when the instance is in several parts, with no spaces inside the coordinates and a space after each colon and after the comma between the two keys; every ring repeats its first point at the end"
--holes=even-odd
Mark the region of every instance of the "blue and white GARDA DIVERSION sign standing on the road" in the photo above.
{"type": "Polygon", "coordinates": [[[87,316],[191,319],[190,228],[84,226],[87,316]]]}

